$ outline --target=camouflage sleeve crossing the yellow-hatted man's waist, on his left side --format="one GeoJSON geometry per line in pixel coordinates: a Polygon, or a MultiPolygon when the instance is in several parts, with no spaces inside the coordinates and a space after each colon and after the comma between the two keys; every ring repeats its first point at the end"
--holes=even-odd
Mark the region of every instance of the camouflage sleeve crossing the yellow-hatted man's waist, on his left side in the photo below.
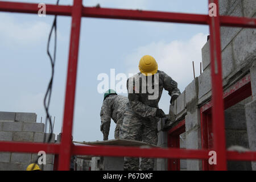
{"type": "MultiPolygon", "coordinates": [[[[130,79],[130,78],[129,78],[130,79]]],[[[131,81],[131,80],[130,80],[131,81]]],[[[127,80],[128,99],[131,109],[138,115],[144,118],[155,117],[157,108],[148,106],[139,101],[139,93],[135,92],[134,82],[127,80]],[[133,85],[129,84],[133,83],[133,85]],[[132,90],[129,85],[133,86],[132,90]],[[134,93],[133,93],[134,92],[134,93]]]]}

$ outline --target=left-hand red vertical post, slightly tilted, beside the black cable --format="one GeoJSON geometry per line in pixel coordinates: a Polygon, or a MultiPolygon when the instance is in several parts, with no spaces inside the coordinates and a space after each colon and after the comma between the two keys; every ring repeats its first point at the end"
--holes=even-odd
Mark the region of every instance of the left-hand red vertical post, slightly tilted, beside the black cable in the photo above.
{"type": "Polygon", "coordinates": [[[71,39],[69,45],[69,60],[65,107],[63,117],[63,133],[61,135],[59,170],[69,170],[72,147],[73,111],[75,105],[77,59],[79,53],[79,38],[82,16],[82,0],[74,0],[72,7],[71,39]]]}

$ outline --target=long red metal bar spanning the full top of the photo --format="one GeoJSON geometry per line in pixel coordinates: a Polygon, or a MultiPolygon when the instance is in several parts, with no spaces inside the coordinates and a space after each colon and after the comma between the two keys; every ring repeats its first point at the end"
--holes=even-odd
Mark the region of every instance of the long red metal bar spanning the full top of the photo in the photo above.
{"type": "MultiPolygon", "coordinates": [[[[13,13],[38,13],[37,3],[19,3],[0,1],[0,11],[13,13]]],[[[47,15],[71,16],[72,6],[46,5],[47,15]]],[[[122,10],[97,7],[83,7],[82,16],[92,18],[110,18],[127,20],[146,20],[155,22],[174,22],[209,24],[209,16],[201,14],[168,13],[160,11],[122,10]]],[[[236,16],[220,16],[221,26],[256,28],[255,18],[241,18],[236,16]]]]}

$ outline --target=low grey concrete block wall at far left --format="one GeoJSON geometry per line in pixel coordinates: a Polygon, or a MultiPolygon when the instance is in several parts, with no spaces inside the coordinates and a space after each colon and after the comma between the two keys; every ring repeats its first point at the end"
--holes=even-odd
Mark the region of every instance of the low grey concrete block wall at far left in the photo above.
{"type": "MultiPolygon", "coordinates": [[[[44,123],[36,123],[35,113],[0,112],[0,140],[14,142],[43,142],[49,134],[44,133],[44,123]]],[[[51,143],[55,142],[52,135],[51,143]]],[[[38,154],[0,152],[0,171],[24,171],[31,163],[35,163],[38,154]]],[[[54,155],[46,155],[46,165],[40,167],[44,171],[53,169],[54,155]]]]}

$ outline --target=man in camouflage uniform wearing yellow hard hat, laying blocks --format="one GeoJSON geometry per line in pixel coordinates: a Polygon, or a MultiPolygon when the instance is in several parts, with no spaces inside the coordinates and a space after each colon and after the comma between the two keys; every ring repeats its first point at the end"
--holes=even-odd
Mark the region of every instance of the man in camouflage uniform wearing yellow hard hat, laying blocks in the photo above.
{"type": "MultiPolygon", "coordinates": [[[[171,104],[179,96],[180,90],[177,88],[176,81],[158,70],[154,57],[143,56],[139,69],[140,73],[127,80],[129,104],[127,104],[123,119],[121,138],[156,145],[158,142],[157,123],[159,118],[166,117],[163,110],[158,108],[163,89],[169,92],[171,104]],[[150,87],[154,89],[153,93],[150,87]],[[152,97],[155,93],[156,97],[152,97]]],[[[139,159],[125,158],[124,169],[139,170],[139,159]]],[[[142,158],[141,169],[153,170],[154,159],[142,158]]]]}

